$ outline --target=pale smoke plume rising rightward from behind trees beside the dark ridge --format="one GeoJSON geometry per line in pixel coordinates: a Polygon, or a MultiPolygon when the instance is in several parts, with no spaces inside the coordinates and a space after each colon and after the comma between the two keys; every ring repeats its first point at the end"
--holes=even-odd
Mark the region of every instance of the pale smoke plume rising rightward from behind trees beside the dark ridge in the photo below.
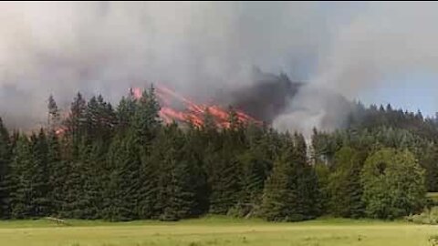
{"type": "MultiPolygon", "coordinates": [[[[339,128],[350,110],[342,97],[357,99],[379,87],[403,86],[392,77],[418,73],[438,77],[438,33],[433,27],[438,4],[372,2],[355,10],[336,26],[330,46],[318,54],[310,83],[299,90],[287,113],[276,118],[277,128],[307,134],[313,127],[339,128]]],[[[428,86],[438,90],[433,83],[428,86]]]]}

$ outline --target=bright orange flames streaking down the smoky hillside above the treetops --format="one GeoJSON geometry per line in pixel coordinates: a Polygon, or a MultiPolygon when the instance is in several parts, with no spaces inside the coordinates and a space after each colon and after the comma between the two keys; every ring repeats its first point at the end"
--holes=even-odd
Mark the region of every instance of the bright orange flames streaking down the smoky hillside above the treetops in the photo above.
{"type": "MultiPolygon", "coordinates": [[[[192,99],[183,97],[168,87],[159,86],[155,92],[161,104],[160,117],[165,123],[172,123],[172,121],[191,122],[194,126],[201,127],[204,123],[204,115],[208,111],[219,128],[229,127],[228,110],[219,105],[197,104],[192,99]]],[[[141,88],[133,88],[132,93],[134,97],[140,98],[141,88]]],[[[261,123],[242,110],[235,109],[235,113],[240,122],[261,123]]]]}

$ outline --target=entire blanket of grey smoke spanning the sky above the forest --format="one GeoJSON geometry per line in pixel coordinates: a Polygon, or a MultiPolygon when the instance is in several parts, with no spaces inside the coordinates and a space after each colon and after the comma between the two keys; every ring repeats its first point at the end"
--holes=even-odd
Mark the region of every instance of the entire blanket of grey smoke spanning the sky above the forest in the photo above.
{"type": "Polygon", "coordinates": [[[295,97],[280,93],[282,110],[262,110],[274,126],[331,129],[348,111],[343,97],[360,97],[394,73],[434,71],[438,64],[437,5],[429,3],[4,2],[0,8],[0,117],[20,128],[45,122],[49,94],[63,108],[77,91],[115,103],[129,87],[149,83],[200,100],[231,91],[255,103],[254,95],[265,95],[249,89],[263,80],[252,77],[257,66],[308,81],[295,97]]]}

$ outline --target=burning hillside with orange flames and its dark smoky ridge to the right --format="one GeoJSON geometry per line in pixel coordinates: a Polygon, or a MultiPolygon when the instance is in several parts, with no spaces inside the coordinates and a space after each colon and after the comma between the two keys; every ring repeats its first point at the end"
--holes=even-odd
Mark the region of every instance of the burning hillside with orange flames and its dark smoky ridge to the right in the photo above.
{"type": "MultiPolygon", "coordinates": [[[[160,116],[166,123],[192,122],[195,126],[203,125],[203,118],[208,112],[220,128],[228,127],[228,106],[235,109],[240,122],[268,124],[287,108],[289,100],[297,94],[300,83],[292,82],[286,75],[276,76],[253,71],[253,83],[238,90],[225,91],[214,97],[213,102],[199,103],[184,97],[169,87],[158,85],[156,95],[162,107],[160,116]]],[[[141,88],[133,89],[135,97],[141,97],[141,88]]]]}

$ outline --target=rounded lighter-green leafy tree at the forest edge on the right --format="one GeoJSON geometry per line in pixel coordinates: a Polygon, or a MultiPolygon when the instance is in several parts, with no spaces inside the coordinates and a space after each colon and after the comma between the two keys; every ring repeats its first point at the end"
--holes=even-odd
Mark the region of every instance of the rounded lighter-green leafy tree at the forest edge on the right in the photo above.
{"type": "Polygon", "coordinates": [[[365,211],[372,218],[394,219],[422,209],[424,170],[409,150],[381,149],[361,172],[365,211]]]}

